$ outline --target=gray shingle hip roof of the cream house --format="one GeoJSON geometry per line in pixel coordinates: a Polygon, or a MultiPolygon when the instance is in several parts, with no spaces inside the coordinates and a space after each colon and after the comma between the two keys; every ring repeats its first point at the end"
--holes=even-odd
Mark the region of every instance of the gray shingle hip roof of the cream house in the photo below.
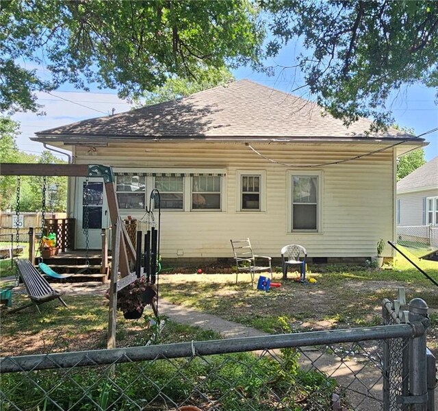
{"type": "MultiPolygon", "coordinates": [[[[108,138],[296,138],[365,137],[371,122],[360,119],[346,127],[342,121],[305,99],[240,80],[177,101],[168,101],[88,119],[38,132],[61,138],[105,136],[108,138]]],[[[389,129],[387,138],[412,137],[389,129]]]]}

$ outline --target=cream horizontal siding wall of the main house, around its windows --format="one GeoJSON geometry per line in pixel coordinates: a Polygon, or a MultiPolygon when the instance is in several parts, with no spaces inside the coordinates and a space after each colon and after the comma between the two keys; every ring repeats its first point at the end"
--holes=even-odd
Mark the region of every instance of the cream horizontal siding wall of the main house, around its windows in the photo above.
{"type": "MultiPolygon", "coordinates": [[[[369,257],[376,242],[394,236],[394,153],[391,149],[341,164],[320,165],[355,158],[376,145],[252,143],[274,164],[240,143],[155,142],[78,147],[77,164],[113,167],[224,169],[226,206],[222,212],[162,212],[160,253],[164,258],[232,257],[230,239],[249,237],[261,255],[280,256],[284,245],[298,243],[310,257],[369,257]],[[298,165],[313,164],[311,169],[298,165]],[[266,212],[240,212],[237,171],[266,172],[266,212]],[[318,233],[289,232],[290,171],[322,171],[322,227],[318,233]],[[181,255],[182,254],[182,255],[181,255]]],[[[146,171],[146,170],[145,170],[146,171]]],[[[148,195],[151,188],[148,188],[148,195]]],[[[76,207],[77,208],[77,207],[76,207]]],[[[73,210],[73,209],[72,209],[73,210]]],[[[122,216],[141,219],[144,212],[120,210],[122,216]]],[[[389,246],[384,256],[392,256],[389,246]]]]}

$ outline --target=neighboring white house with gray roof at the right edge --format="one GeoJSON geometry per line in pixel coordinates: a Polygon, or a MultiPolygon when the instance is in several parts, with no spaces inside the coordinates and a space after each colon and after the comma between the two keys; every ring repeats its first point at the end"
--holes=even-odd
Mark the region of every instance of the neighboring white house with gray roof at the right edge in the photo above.
{"type": "Polygon", "coordinates": [[[438,156],[397,183],[397,225],[438,226],[438,156]]]}

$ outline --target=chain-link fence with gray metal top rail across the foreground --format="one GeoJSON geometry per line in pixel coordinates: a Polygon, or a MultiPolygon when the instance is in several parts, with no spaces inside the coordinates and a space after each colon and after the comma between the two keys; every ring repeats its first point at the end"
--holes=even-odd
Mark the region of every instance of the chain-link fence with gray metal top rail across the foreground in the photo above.
{"type": "Polygon", "coordinates": [[[433,411],[427,306],[402,302],[376,327],[1,358],[1,409],[433,411]]]}

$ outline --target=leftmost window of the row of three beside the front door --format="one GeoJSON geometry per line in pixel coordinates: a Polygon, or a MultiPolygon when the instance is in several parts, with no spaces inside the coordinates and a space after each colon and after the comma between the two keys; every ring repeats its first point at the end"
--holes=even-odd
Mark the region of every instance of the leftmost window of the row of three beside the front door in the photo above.
{"type": "Polygon", "coordinates": [[[116,175],[116,195],[120,209],[143,210],[146,205],[146,177],[116,175]]]}

